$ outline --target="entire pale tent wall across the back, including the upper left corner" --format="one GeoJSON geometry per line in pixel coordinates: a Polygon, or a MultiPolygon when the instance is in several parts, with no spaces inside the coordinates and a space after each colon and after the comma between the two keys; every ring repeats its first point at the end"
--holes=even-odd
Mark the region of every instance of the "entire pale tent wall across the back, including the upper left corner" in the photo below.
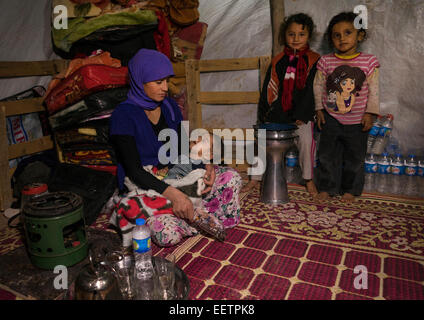
{"type": "MultiPolygon", "coordinates": [[[[423,0],[285,0],[286,15],[309,13],[317,25],[312,47],[320,53],[326,26],[335,14],[365,4],[369,39],[363,50],[381,62],[381,112],[395,116],[394,136],[403,151],[424,146],[424,1],[423,0]]],[[[208,24],[202,59],[271,55],[271,16],[266,0],[200,0],[200,21],[208,24]]],[[[51,45],[51,0],[0,0],[2,32],[0,61],[58,58],[51,45]]],[[[202,74],[202,90],[257,90],[257,72],[202,74]]],[[[47,85],[49,77],[0,79],[0,99],[34,85],[47,85]]],[[[205,125],[249,128],[256,121],[256,106],[206,106],[205,125]],[[222,116],[225,114],[225,119],[222,116]]],[[[424,154],[423,154],[424,155],[424,154]]]]}

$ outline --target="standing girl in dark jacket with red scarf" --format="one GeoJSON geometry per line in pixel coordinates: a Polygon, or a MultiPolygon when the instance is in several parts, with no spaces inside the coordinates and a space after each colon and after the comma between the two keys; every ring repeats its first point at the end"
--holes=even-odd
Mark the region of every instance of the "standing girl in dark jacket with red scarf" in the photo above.
{"type": "MultiPolygon", "coordinates": [[[[280,28],[282,53],[273,58],[264,80],[258,104],[258,124],[296,123],[299,136],[299,160],[306,189],[318,193],[312,180],[315,160],[313,81],[319,54],[309,49],[314,23],[306,14],[299,13],[285,19],[280,28]]],[[[262,176],[252,176],[242,189],[252,189],[262,176]]]]}

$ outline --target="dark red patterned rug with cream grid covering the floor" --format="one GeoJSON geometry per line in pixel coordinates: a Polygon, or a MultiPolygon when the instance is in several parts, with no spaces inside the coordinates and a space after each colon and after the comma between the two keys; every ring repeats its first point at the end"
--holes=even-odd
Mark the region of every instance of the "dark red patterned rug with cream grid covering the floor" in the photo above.
{"type": "MultiPolygon", "coordinates": [[[[289,196],[274,207],[258,190],[243,194],[241,223],[225,242],[199,235],[153,252],[176,255],[193,300],[424,299],[424,199],[317,203],[297,185],[289,196]]],[[[107,226],[106,214],[93,225],[107,226]]],[[[17,230],[0,235],[0,254],[20,246],[17,230]]],[[[0,285],[0,299],[13,297],[0,285]]]]}

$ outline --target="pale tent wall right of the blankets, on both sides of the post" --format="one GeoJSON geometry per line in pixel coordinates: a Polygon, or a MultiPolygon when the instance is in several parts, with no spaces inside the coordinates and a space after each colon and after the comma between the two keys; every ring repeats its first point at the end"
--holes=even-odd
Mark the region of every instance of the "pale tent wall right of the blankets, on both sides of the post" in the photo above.
{"type": "MultiPolygon", "coordinates": [[[[423,0],[285,0],[286,16],[305,12],[317,27],[312,48],[329,52],[323,35],[330,19],[357,5],[366,5],[369,39],[362,49],[381,63],[381,113],[395,116],[393,136],[406,154],[424,156],[424,1],[423,0]]],[[[209,24],[202,59],[271,55],[271,17],[264,0],[200,1],[200,17],[209,24]]],[[[202,75],[201,85],[213,90],[256,90],[252,73],[202,75]],[[224,88],[224,89],[223,89],[224,88]]],[[[251,127],[255,106],[206,106],[207,126],[251,127]],[[223,119],[222,114],[225,114],[223,119]]]]}

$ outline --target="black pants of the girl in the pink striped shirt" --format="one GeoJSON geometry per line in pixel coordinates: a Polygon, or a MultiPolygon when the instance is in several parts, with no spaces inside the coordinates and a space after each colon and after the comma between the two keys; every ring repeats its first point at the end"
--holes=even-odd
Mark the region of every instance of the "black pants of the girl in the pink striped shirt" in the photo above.
{"type": "Polygon", "coordinates": [[[324,112],[318,157],[318,190],[331,196],[360,196],[364,188],[364,166],[368,132],[362,124],[343,125],[324,112]]]}

